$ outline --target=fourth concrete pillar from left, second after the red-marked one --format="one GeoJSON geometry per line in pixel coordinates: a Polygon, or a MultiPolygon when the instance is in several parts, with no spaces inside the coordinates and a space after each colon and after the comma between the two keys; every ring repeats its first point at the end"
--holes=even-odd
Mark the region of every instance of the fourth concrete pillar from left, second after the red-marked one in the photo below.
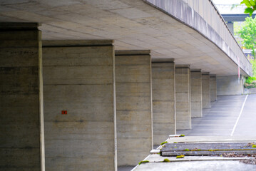
{"type": "Polygon", "coordinates": [[[160,145],[176,134],[175,63],[152,63],[153,138],[160,145]]]}

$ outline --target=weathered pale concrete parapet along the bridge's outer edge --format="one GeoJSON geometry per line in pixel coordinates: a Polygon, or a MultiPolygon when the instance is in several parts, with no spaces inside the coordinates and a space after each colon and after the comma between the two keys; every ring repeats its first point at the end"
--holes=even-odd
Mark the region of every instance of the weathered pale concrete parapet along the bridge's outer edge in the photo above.
{"type": "MultiPolygon", "coordinates": [[[[211,0],[144,0],[215,43],[237,66],[252,76],[252,65],[246,58],[227,24],[211,0]]],[[[237,69],[238,70],[238,69],[237,69]]]]}

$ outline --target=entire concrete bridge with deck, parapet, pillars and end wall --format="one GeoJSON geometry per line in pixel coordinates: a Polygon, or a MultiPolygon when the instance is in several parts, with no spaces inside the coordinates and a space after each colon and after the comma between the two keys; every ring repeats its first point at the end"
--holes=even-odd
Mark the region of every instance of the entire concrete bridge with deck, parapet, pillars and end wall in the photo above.
{"type": "Polygon", "coordinates": [[[0,4],[2,170],[136,165],[252,75],[212,1],[0,4]]]}

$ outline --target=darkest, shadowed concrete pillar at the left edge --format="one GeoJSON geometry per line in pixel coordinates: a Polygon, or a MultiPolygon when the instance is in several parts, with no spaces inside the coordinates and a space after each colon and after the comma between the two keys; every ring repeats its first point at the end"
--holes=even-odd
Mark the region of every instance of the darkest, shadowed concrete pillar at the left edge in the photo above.
{"type": "Polygon", "coordinates": [[[44,170],[38,26],[0,23],[0,170],[44,170]]]}

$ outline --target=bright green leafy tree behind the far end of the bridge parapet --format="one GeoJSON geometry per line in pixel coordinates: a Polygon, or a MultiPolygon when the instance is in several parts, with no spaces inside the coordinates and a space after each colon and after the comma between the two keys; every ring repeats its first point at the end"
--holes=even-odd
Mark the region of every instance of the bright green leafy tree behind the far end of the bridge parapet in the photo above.
{"type": "Polygon", "coordinates": [[[243,39],[242,44],[245,48],[252,49],[252,56],[255,59],[256,18],[247,17],[238,33],[240,33],[240,37],[243,39]]]}

